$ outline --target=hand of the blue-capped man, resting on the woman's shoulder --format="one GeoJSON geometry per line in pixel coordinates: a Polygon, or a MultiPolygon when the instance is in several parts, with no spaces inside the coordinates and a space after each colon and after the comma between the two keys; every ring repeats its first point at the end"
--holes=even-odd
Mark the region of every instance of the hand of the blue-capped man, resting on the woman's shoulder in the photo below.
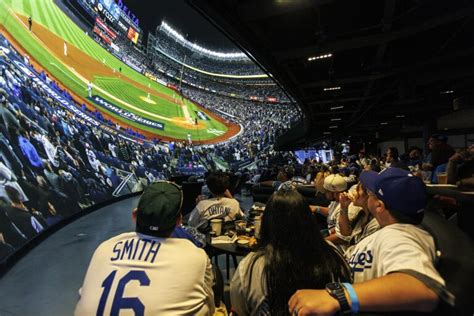
{"type": "Polygon", "coordinates": [[[334,315],[339,302],[326,290],[298,290],[288,301],[290,315],[334,315]]]}

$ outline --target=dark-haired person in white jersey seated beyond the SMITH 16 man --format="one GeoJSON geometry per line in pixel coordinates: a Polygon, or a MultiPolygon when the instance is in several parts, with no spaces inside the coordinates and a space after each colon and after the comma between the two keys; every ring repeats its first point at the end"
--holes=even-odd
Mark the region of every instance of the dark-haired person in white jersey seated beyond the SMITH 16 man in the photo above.
{"type": "Polygon", "coordinates": [[[205,232],[211,219],[220,218],[231,222],[243,216],[239,201],[232,198],[228,188],[229,177],[222,171],[211,173],[206,179],[212,198],[198,202],[189,216],[188,224],[205,232]]]}

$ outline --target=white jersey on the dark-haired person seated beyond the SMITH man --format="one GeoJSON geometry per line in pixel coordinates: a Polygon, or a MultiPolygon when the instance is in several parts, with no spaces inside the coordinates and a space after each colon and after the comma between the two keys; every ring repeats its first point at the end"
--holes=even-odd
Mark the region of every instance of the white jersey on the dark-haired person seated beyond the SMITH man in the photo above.
{"type": "Polygon", "coordinates": [[[197,229],[205,229],[211,219],[221,218],[231,222],[242,216],[239,202],[226,197],[212,198],[200,201],[189,216],[188,224],[197,229]]]}

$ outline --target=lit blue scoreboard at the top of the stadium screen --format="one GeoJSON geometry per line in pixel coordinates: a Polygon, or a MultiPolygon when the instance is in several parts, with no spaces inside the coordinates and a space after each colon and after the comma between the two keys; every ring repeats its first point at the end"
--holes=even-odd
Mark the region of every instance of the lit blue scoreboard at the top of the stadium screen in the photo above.
{"type": "Polygon", "coordinates": [[[141,41],[142,31],[139,20],[122,0],[77,0],[82,5],[94,8],[94,11],[115,32],[123,35],[135,45],[141,41]]]}

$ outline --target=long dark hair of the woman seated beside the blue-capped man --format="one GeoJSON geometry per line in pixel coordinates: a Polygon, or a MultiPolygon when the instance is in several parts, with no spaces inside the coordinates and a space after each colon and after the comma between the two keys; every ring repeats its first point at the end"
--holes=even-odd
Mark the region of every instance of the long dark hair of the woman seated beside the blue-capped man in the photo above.
{"type": "Polygon", "coordinates": [[[296,190],[279,190],[271,196],[260,236],[254,262],[265,257],[262,286],[271,315],[286,315],[288,300],[298,289],[350,282],[347,263],[324,240],[307,200],[296,190]]]}

